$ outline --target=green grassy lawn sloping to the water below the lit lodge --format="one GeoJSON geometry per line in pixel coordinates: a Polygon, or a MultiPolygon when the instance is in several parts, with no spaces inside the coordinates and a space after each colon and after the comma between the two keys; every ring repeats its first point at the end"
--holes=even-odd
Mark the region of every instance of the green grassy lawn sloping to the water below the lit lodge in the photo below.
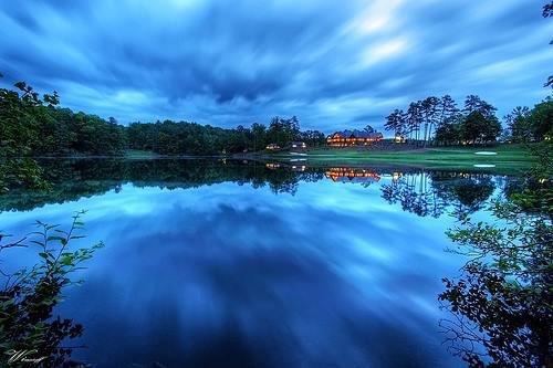
{"type": "MultiPolygon", "coordinates": [[[[273,155],[276,159],[299,158],[294,155],[273,155]]],[[[312,165],[361,165],[396,164],[435,168],[478,168],[474,165],[494,165],[493,171],[522,171],[532,166],[533,158],[522,145],[498,145],[493,147],[426,148],[405,151],[311,149],[307,159],[312,165]],[[477,155],[479,151],[497,153],[493,156],[477,155]]]]}

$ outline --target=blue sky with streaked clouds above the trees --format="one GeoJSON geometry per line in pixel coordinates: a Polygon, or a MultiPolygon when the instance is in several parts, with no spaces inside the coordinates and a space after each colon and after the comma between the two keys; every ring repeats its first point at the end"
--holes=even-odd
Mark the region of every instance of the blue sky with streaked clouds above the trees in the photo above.
{"type": "Polygon", "coordinates": [[[0,0],[1,83],[124,124],[296,115],[330,133],[447,93],[479,94],[501,117],[550,94],[543,3],[0,0]]]}

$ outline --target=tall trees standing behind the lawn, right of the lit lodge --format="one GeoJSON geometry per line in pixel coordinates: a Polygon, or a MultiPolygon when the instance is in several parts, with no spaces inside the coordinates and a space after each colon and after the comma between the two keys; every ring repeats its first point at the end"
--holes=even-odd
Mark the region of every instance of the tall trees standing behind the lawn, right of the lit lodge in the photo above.
{"type": "Polygon", "coordinates": [[[502,128],[497,108],[477,95],[469,95],[462,108],[450,96],[430,96],[395,109],[386,117],[385,129],[396,137],[426,147],[504,141],[541,141],[553,133],[553,101],[547,97],[534,108],[517,107],[504,117],[502,128]]]}

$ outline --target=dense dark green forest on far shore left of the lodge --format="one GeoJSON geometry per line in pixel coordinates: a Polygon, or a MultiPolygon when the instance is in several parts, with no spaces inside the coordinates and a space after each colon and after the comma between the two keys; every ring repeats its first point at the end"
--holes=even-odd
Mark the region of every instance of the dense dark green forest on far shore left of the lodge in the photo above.
{"type": "Polygon", "coordinates": [[[300,129],[298,117],[274,117],[269,126],[253,123],[233,129],[188,122],[133,123],[59,107],[58,93],[41,98],[24,82],[15,91],[0,88],[0,158],[31,156],[117,156],[126,149],[163,155],[218,155],[262,150],[293,140],[324,144],[319,130],[300,129]]]}

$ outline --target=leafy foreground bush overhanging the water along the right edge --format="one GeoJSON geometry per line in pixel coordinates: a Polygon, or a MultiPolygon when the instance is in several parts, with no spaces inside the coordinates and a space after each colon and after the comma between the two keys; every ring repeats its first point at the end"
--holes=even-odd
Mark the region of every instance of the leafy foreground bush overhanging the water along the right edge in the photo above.
{"type": "Polygon", "coordinates": [[[546,141],[534,151],[539,165],[521,188],[490,208],[495,222],[460,213],[460,225],[448,232],[469,261],[461,277],[444,278],[439,298],[455,318],[441,326],[470,367],[553,365],[551,154],[546,141]]]}

